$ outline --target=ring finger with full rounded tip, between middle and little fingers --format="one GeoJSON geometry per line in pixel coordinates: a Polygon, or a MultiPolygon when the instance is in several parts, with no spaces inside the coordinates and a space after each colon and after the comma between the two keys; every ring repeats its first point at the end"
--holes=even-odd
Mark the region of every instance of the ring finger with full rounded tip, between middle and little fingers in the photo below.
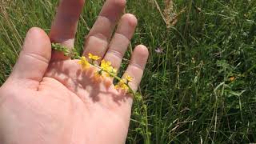
{"type": "Polygon", "coordinates": [[[119,69],[122,58],[129,46],[130,39],[134,35],[137,19],[133,14],[125,14],[122,16],[118,25],[118,30],[114,34],[110,42],[109,49],[106,52],[104,59],[112,63],[115,69],[119,69]]]}

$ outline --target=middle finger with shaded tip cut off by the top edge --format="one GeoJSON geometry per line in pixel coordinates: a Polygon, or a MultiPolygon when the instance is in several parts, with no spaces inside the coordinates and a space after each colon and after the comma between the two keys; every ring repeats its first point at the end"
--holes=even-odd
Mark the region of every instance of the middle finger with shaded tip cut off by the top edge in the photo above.
{"type": "Polygon", "coordinates": [[[84,55],[89,53],[103,57],[114,27],[126,6],[126,0],[107,0],[98,19],[86,37],[84,55]]]}

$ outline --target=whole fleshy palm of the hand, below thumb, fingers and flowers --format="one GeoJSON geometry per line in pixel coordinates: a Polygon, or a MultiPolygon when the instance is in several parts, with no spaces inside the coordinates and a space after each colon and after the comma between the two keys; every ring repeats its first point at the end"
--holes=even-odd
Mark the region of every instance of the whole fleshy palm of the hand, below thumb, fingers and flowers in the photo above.
{"type": "Polygon", "coordinates": [[[2,105],[6,108],[1,111],[1,122],[3,127],[12,125],[12,130],[25,131],[10,131],[7,137],[24,143],[41,138],[42,143],[124,142],[131,99],[113,85],[94,82],[91,71],[82,72],[75,60],[53,62],[38,91],[33,90],[34,82],[30,89],[13,85],[14,91],[6,94],[11,96],[2,105]]]}

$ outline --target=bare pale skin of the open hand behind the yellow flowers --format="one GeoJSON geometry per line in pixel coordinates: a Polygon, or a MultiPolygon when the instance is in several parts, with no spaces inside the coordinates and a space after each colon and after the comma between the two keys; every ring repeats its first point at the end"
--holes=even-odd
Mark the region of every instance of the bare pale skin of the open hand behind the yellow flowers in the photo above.
{"type": "MultiPolygon", "coordinates": [[[[83,5],[83,0],[62,0],[49,35],[39,28],[26,34],[18,62],[0,88],[0,143],[126,142],[133,98],[114,89],[111,79],[96,81],[93,68],[82,71],[78,60],[51,50],[51,42],[74,46],[83,5]]],[[[123,14],[125,5],[125,0],[106,0],[86,36],[84,55],[120,67],[137,25],[134,15],[123,14]]],[[[134,91],[147,58],[146,46],[134,48],[125,73],[134,78],[134,91]]]]}

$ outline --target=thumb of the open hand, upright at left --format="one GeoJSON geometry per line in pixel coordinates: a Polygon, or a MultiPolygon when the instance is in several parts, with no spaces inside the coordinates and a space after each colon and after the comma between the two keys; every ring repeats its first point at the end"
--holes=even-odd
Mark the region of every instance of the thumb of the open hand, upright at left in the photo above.
{"type": "Polygon", "coordinates": [[[31,79],[40,82],[51,57],[50,38],[40,28],[31,28],[26,34],[12,78],[31,79]]]}

